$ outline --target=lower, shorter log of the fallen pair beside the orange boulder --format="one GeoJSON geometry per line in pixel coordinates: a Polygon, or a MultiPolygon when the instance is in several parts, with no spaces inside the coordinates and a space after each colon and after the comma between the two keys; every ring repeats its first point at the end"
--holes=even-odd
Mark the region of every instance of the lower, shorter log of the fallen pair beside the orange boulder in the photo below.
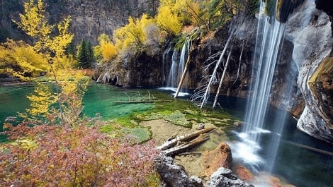
{"type": "Polygon", "coordinates": [[[209,135],[200,134],[197,138],[195,138],[195,139],[193,139],[189,142],[183,143],[183,144],[178,145],[176,147],[172,147],[172,148],[164,150],[162,152],[166,156],[176,155],[177,153],[183,152],[184,150],[187,150],[188,148],[191,148],[195,145],[198,145],[199,143],[202,143],[203,141],[208,140],[208,139],[209,139],[209,135]]]}

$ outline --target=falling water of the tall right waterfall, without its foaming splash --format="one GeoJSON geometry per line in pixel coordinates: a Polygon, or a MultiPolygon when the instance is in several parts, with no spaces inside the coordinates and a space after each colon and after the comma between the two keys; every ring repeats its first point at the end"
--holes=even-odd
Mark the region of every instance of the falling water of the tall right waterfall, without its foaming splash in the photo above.
{"type": "Polygon", "coordinates": [[[252,68],[252,77],[256,78],[250,87],[252,93],[247,104],[247,126],[244,129],[256,142],[260,140],[260,133],[250,132],[263,127],[278,49],[285,28],[285,24],[278,22],[275,16],[275,11],[271,17],[264,15],[264,3],[261,3],[252,68]]]}

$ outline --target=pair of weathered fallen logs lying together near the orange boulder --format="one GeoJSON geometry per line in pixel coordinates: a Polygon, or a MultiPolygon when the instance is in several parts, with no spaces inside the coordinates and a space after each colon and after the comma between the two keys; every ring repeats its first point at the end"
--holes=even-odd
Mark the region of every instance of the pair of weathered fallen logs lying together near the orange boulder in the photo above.
{"type": "Polygon", "coordinates": [[[174,139],[166,140],[162,145],[157,147],[157,150],[162,150],[166,155],[174,155],[183,152],[189,147],[193,147],[207,140],[209,136],[205,133],[209,133],[213,130],[215,130],[214,127],[208,127],[186,135],[179,135],[174,139]],[[177,145],[177,143],[181,143],[181,145],[177,145]]]}

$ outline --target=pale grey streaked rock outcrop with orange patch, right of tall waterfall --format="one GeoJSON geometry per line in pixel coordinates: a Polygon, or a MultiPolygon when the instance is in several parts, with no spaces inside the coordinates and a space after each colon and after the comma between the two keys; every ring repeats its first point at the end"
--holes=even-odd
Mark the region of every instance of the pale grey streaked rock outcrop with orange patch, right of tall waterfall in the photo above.
{"type": "Polygon", "coordinates": [[[333,143],[332,116],[332,23],[314,0],[306,0],[287,22],[286,40],[293,43],[293,61],[298,66],[298,87],[305,109],[298,128],[333,143]]]}

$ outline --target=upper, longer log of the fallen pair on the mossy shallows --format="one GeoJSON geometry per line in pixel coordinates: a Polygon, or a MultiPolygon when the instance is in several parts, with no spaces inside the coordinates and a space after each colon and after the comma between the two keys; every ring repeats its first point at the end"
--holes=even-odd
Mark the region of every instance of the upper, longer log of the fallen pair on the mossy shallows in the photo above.
{"type": "Polygon", "coordinates": [[[193,133],[188,133],[186,135],[179,135],[176,138],[166,141],[162,145],[159,145],[159,147],[157,147],[157,150],[166,150],[169,147],[176,145],[178,142],[185,142],[186,140],[195,138],[196,136],[198,136],[200,134],[208,133],[213,130],[215,130],[214,127],[208,127],[208,128],[203,128],[199,131],[194,131],[193,133]]]}

